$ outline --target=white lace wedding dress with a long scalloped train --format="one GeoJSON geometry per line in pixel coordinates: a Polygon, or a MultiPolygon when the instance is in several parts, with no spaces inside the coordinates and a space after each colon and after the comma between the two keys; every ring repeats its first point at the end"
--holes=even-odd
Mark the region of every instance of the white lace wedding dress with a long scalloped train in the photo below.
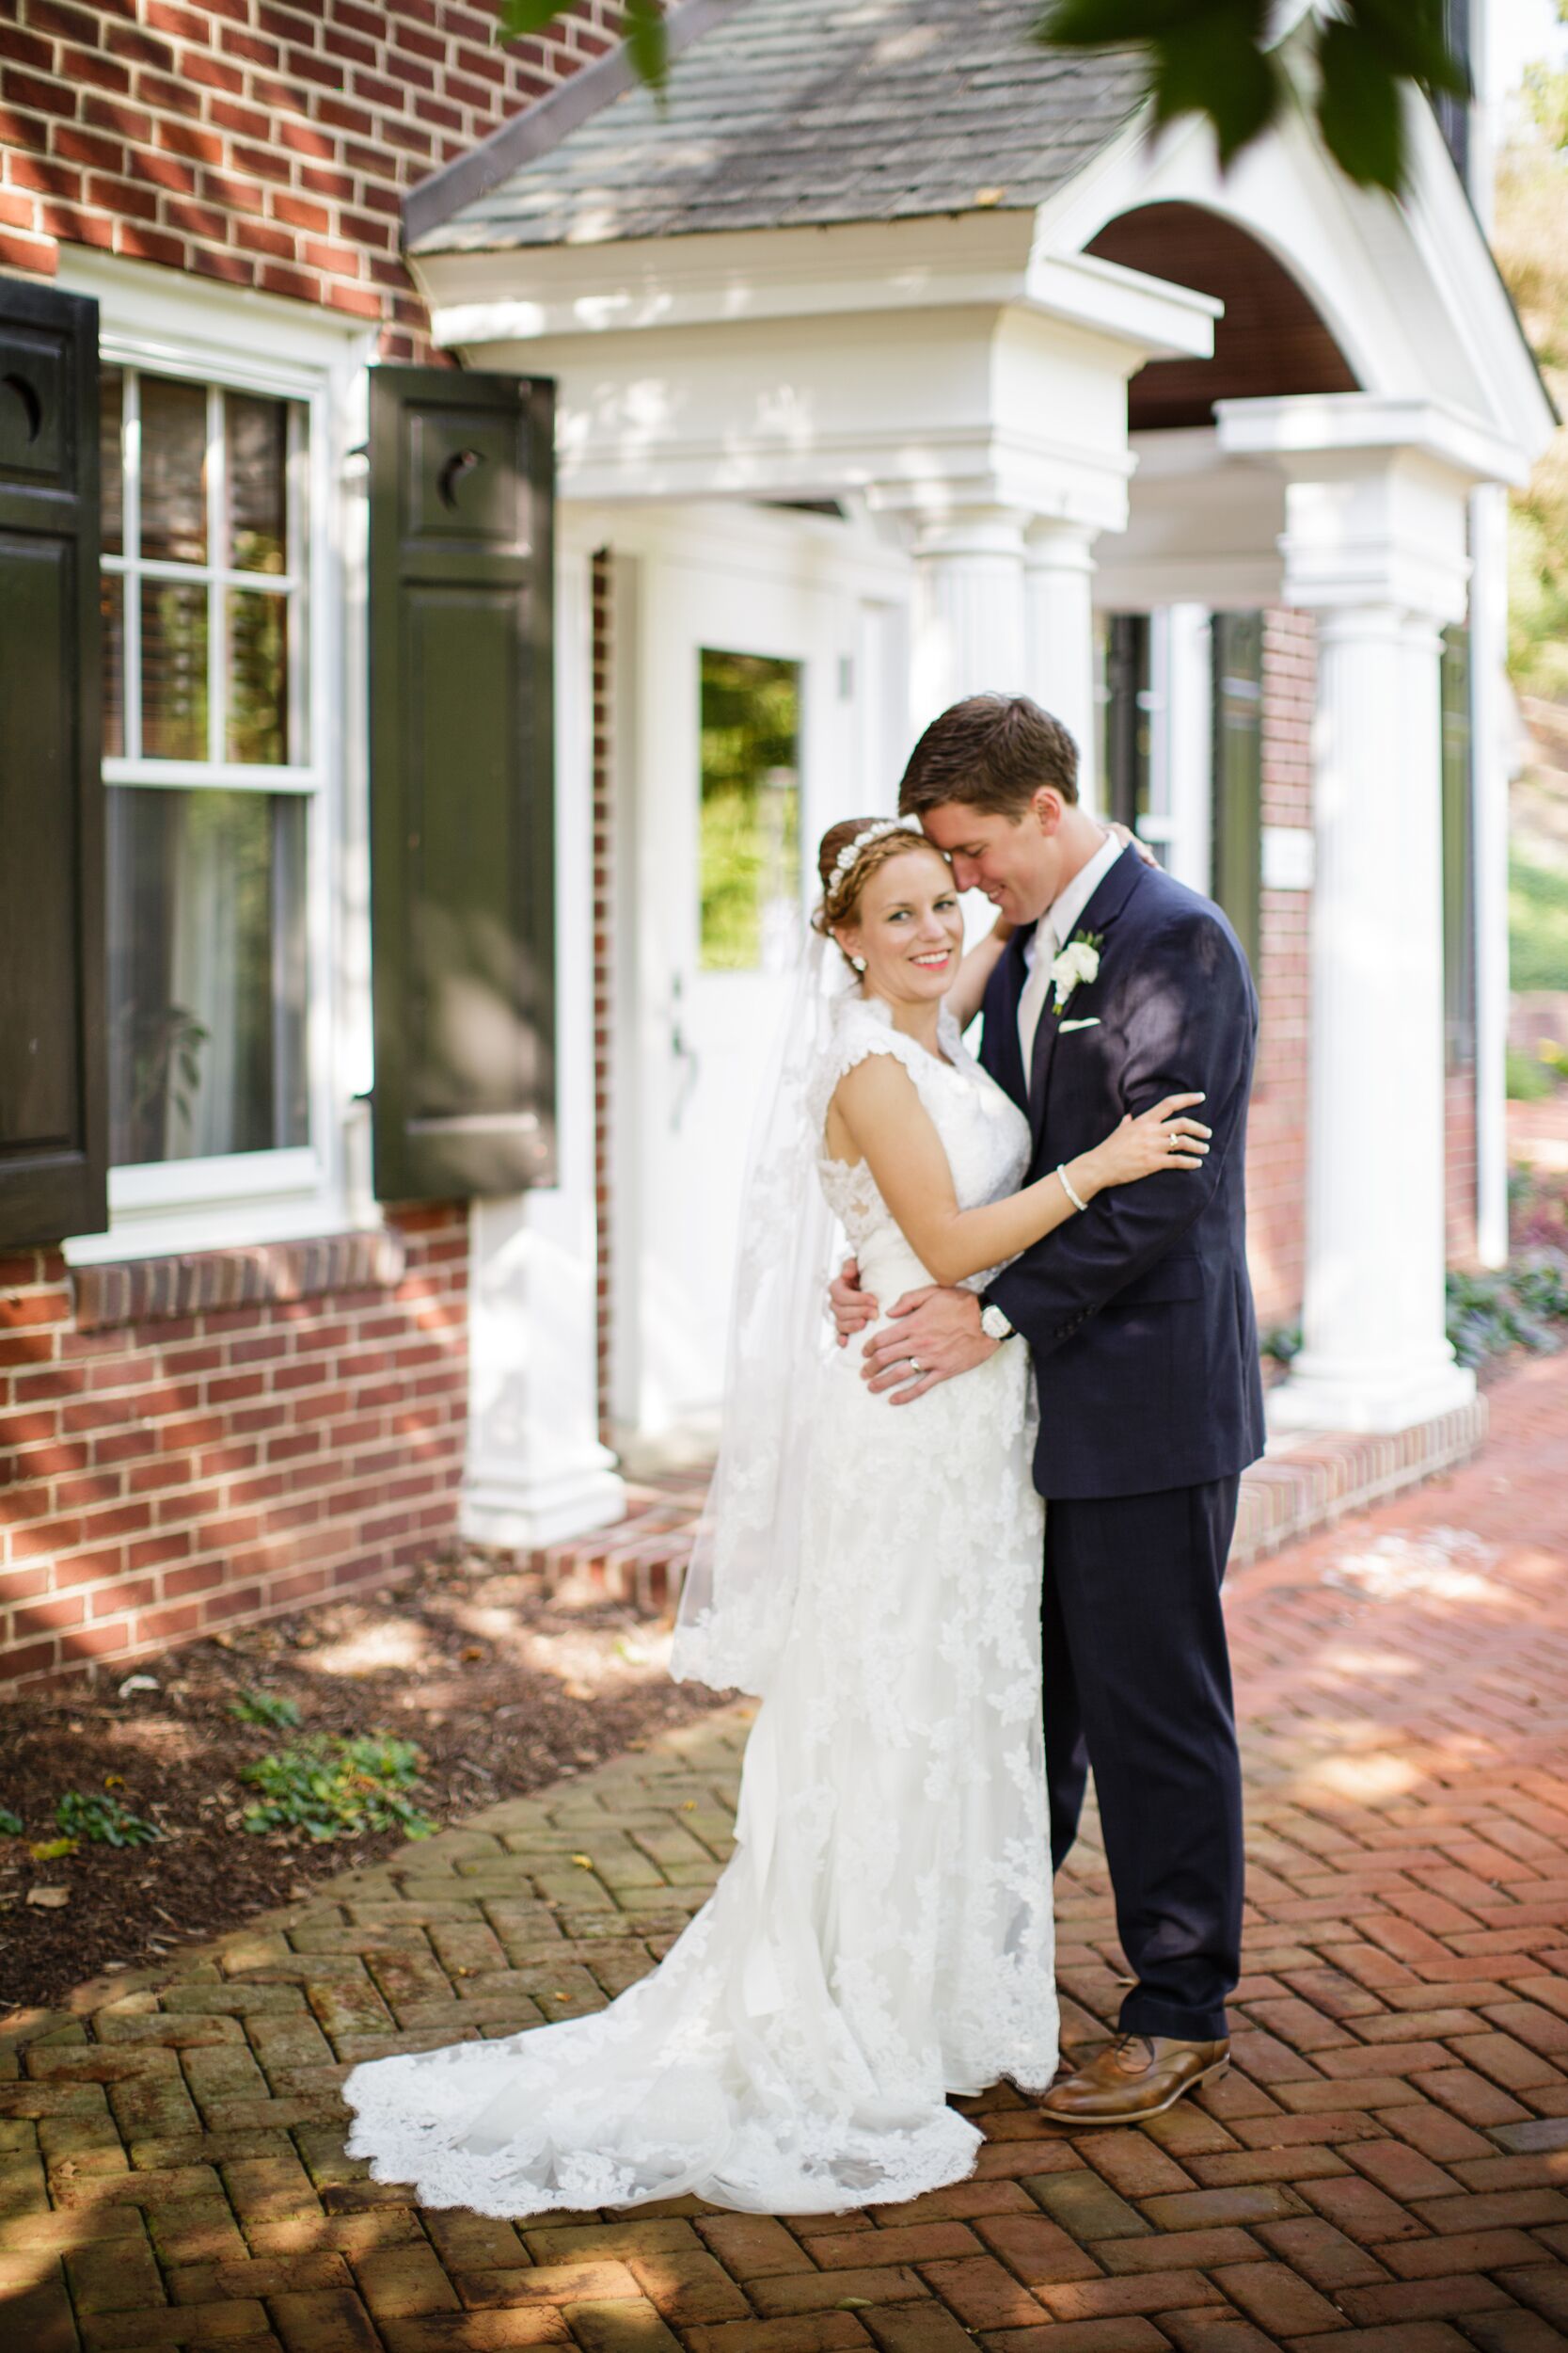
{"type": "MultiPolygon", "coordinates": [[[[893,1054],[976,1207],[1020,1184],[1027,1122],[952,1024],[945,1049],[851,995],[811,1113],[820,1139],[837,1078],[893,1054]]],[[[867,1169],[818,1174],[884,1306],[929,1280],[867,1169]]],[[[1051,2082],[1027,1353],[898,1409],[858,1362],[809,1374],[799,1586],[712,1899],[595,2017],[357,2066],[348,2151],[378,2181],[498,2217],[686,2191],[842,2209],[973,2169],[947,2092],[1051,2082]]]]}

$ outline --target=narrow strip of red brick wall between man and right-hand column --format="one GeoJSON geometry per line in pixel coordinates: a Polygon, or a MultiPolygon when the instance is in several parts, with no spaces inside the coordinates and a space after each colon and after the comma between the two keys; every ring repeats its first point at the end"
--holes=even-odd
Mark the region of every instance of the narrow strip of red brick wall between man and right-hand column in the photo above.
{"type": "MultiPolygon", "coordinates": [[[[1312,616],[1276,609],[1262,628],[1262,821],[1312,824],[1312,616]]],[[[1312,892],[1265,889],[1258,1071],[1246,1136],[1246,1226],[1258,1322],[1295,1322],[1307,1252],[1307,1028],[1312,892]]]]}

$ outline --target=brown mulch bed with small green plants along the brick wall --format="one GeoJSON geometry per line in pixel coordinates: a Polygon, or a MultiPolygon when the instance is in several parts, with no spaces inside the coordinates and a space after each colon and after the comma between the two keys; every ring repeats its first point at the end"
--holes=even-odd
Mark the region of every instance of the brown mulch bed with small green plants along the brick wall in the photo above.
{"type": "Polygon", "coordinates": [[[0,1838],[0,2024],[404,1845],[400,1831],[329,1845],[247,1833],[240,1817],[256,1793],[235,1777],[254,1758],[310,1732],[411,1739],[425,1755],[411,1795],[449,1824],[717,1706],[701,1685],[668,1680],[665,1652],[668,1633],[625,1605],[550,1602],[534,1572],[463,1555],[362,1598],[0,1699],[0,1807],[24,1821],[21,1838],[0,1838]],[[127,1689],[136,1678],[155,1689],[127,1689]],[[296,1701],[301,1725],[237,1722],[230,1704],[256,1689],[296,1701]],[[66,1791],[106,1788],[165,1835],[31,1854],[59,1835],[66,1791]],[[63,1887],[63,1906],[28,1901],[40,1887],[63,1887]]]}

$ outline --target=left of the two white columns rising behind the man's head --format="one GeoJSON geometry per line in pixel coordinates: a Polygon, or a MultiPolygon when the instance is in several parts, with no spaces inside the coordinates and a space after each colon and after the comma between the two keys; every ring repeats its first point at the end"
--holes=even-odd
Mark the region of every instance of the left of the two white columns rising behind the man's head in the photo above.
{"type": "Polygon", "coordinates": [[[971,506],[922,522],[914,536],[914,736],[964,694],[1027,694],[1025,518],[971,506]]]}

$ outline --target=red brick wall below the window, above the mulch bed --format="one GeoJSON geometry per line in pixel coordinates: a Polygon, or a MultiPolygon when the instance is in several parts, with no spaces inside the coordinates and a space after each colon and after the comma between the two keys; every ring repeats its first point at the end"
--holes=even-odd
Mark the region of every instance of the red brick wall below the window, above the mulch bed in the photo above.
{"type": "Polygon", "coordinates": [[[296,1609],[451,1537],[461,1207],[393,1212],[390,1285],[82,1327],[132,1280],[237,1297],[254,1259],[308,1278],[334,1247],[89,1268],[80,1315],[56,1252],[0,1259],[0,1678],[296,1609]]]}

